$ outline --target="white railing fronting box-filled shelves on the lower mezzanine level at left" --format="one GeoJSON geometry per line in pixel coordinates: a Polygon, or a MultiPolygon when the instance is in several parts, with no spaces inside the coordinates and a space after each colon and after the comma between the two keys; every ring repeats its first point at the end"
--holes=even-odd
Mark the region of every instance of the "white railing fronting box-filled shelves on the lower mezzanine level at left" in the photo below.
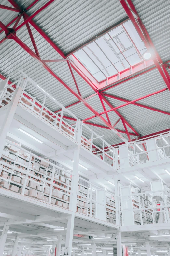
{"type": "Polygon", "coordinates": [[[0,158],[1,189],[69,209],[72,176],[61,164],[54,164],[6,140],[0,158]]]}

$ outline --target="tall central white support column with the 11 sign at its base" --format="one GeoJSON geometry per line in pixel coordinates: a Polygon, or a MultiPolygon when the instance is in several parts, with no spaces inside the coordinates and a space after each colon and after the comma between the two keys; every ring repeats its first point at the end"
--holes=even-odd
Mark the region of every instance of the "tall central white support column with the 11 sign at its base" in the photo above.
{"type": "Polygon", "coordinates": [[[71,182],[71,190],[73,194],[70,198],[70,208],[72,210],[72,214],[68,216],[67,222],[67,233],[65,240],[65,247],[69,247],[69,256],[71,256],[71,248],[73,242],[73,230],[74,230],[74,218],[76,211],[76,203],[77,203],[77,188],[78,188],[78,164],[79,164],[79,155],[80,155],[80,145],[81,145],[81,131],[82,131],[82,122],[78,120],[78,146],[74,151],[74,162],[73,162],[73,177],[71,182]]]}

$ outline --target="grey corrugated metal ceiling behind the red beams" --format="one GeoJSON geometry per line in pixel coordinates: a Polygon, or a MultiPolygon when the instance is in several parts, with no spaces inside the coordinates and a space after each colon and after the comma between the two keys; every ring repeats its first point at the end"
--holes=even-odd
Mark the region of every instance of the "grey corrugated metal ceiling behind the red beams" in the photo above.
{"type": "MultiPolygon", "coordinates": [[[[22,8],[27,7],[32,3],[32,0],[18,0],[16,1],[22,8]]],[[[47,1],[39,1],[28,14],[34,13],[47,1]]],[[[169,11],[167,8],[167,1],[162,0],[143,0],[133,1],[139,16],[141,17],[144,25],[146,26],[153,43],[155,44],[159,54],[164,61],[170,59],[169,47],[169,11]]],[[[11,6],[7,0],[2,0],[1,4],[11,6]]],[[[15,12],[0,9],[1,21],[7,24],[10,20],[16,17],[15,12]]],[[[54,1],[49,7],[38,14],[34,21],[50,36],[50,38],[65,52],[69,52],[78,45],[86,42],[96,34],[102,32],[106,28],[118,23],[126,18],[126,13],[118,0],[105,0],[105,1],[54,1]]],[[[31,27],[35,42],[39,49],[42,59],[57,59],[60,55],[31,27]]],[[[4,33],[1,34],[0,39],[3,38],[4,33]]],[[[33,46],[30,41],[28,32],[22,27],[17,36],[26,43],[32,50],[33,46]]],[[[0,47],[0,72],[4,76],[11,75],[11,80],[17,77],[16,72],[20,69],[25,72],[29,77],[37,82],[44,90],[60,101],[64,106],[72,104],[77,99],[64,88],[54,77],[52,77],[41,65],[39,65],[29,54],[27,54],[17,43],[8,39],[0,47]]],[[[64,62],[50,63],[49,66],[61,76],[74,90],[76,90],[71,74],[67,65],[64,62]]],[[[75,73],[75,72],[74,72],[75,73]]],[[[94,93],[92,88],[75,73],[78,86],[83,97],[87,97],[94,93]]],[[[153,70],[131,81],[124,82],[116,86],[106,93],[113,94],[118,97],[133,100],[154,91],[165,88],[162,77],[157,70],[153,70]]],[[[42,95],[33,90],[31,86],[27,87],[27,92],[36,96],[42,101],[42,95]]],[[[141,104],[146,104],[151,107],[160,108],[164,111],[169,111],[169,91],[149,97],[140,101],[141,104]]],[[[123,102],[107,98],[113,106],[119,106],[123,102]]],[[[103,108],[99,98],[95,96],[88,100],[88,103],[98,111],[102,112],[103,108]]],[[[49,102],[47,106],[51,110],[55,107],[49,102]]],[[[105,104],[106,109],[109,109],[105,104]]],[[[92,112],[87,109],[82,103],[74,105],[70,108],[75,115],[81,119],[92,116],[92,112]]],[[[127,119],[127,121],[141,134],[146,135],[155,131],[169,128],[170,118],[168,115],[161,114],[155,111],[147,110],[134,105],[121,108],[119,112],[127,119]]],[[[112,124],[114,124],[118,115],[114,112],[109,113],[112,124]]],[[[68,121],[68,120],[67,120],[68,121]]],[[[70,121],[69,121],[70,122],[70,121]]],[[[103,125],[100,119],[94,119],[92,122],[103,125]]],[[[104,135],[104,139],[111,144],[120,142],[120,139],[110,130],[92,127],[99,135],[104,135]]],[[[122,129],[123,125],[119,122],[116,126],[122,129]]],[[[128,128],[129,131],[131,131],[128,128]]],[[[127,136],[124,136],[127,138],[127,136]]]]}

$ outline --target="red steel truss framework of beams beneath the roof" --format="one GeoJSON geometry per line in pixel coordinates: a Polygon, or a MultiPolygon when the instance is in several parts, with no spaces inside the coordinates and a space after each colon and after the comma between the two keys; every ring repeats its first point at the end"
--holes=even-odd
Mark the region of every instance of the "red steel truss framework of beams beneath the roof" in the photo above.
{"type": "MultiPolygon", "coordinates": [[[[35,0],[33,1],[33,3],[31,5],[29,5],[26,10],[30,9],[34,4],[36,4],[39,0],[35,0]]],[[[77,99],[78,101],[76,101],[75,103],[67,106],[67,107],[70,107],[70,106],[73,106],[75,104],[78,104],[78,103],[83,103],[89,110],[92,111],[92,113],[94,114],[93,117],[98,117],[100,118],[103,123],[105,124],[105,126],[102,126],[102,125],[98,125],[98,124],[94,124],[94,123],[91,123],[91,122],[87,122],[87,120],[91,119],[91,118],[87,118],[85,120],[83,120],[84,123],[86,124],[90,124],[90,125],[93,125],[93,126],[97,126],[97,127],[101,127],[101,128],[106,128],[106,129],[111,129],[113,130],[124,142],[127,142],[127,140],[120,134],[120,133],[125,133],[127,134],[127,137],[129,139],[129,141],[131,141],[131,138],[130,138],[130,135],[131,136],[140,136],[139,133],[135,130],[135,128],[133,128],[131,126],[131,124],[128,123],[128,121],[117,111],[117,109],[119,109],[120,107],[124,107],[126,105],[129,105],[129,104],[133,104],[133,105],[137,105],[137,106],[140,106],[140,107],[144,107],[144,108],[147,108],[147,109],[150,109],[150,110],[153,110],[153,111],[158,111],[158,112],[161,112],[161,113],[164,113],[164,114],[168,114],[170,115],[170,113],[168,112],[165,112],[165,111],[162,111],[162,110],[158,110],[158,109],[155,109],[155,108],[151,108],[149,106],[146,106],[146,105],[142,105],[142,104],[139,104],[139,103],[136,103],[137,100],[139,99],[136,99],[136,100],[133,100],[133,101],[129,101],[129,100],[126,100],[126,99],[122,99],[122,98],[118,98],[118,97],[115,97],[114,95],[109,95],[109,94],[105,94],[104,91],[110,89],[111,87],[113,86],[117,86],[121,83],[123,83],[124,81],[127,81],[127,80],[130,80],[130,79],[133,79],[134,77],[137,77],[139,76],[140,74],[144,74],[146,72],[149,72],[150,70],[153,70],[155,68],[157,68],[161,74],[161,76],[163,77],[163,80],[167,86],[167,88],[163,89],[163,90],[167,90],[167,89],[170,89],[170,77],[169,77],[169,74],[166,70],[167,68],[167,65],[165,63],[162,62],[160,56],[158,55],[145,27],[143,26],[136,10],[135,10],[135,7],[133,6],[132,4],[132,1],[131,0],[127,0],[129,6],[127,5],[127,3],[125,2],[125,0],[120,0],[123,8],[125,9],[129,19],[134,23],[134,26],[139,34],[139,36],[141,37],[141,39],[144,41],[145,43],[145,46],[146,48],[151,51],[152,53],[152,60],[149,60],[149,61],[143,61],[142,63],[140,63],[140,65],[135,65],[133,68],[131,68],[131,70],[124,70],[122,71],[122,74],[119,74],[119,77],[117,76],[113,76],[113,77],[109,77],[107,79],[107,81],[102,81],[100,83],[98,83],[93,77],[92,75],[85,69],[85,67],[83,67],[83,65],[78,62],[75,58],[75,62],[73,61],[70,61],[70,59],[68,59],[64,53],[59,49],[59,47],[45,34],[45,32],[39,27],[36,25],[36,23],[32,20],[39,12],[41,12],[42,10],[44,10],[47,6],[49,6],[52,2],[54,2],[55,0],[50,0],[48,1],[45,5],[43,5],[40,9],[38,9],[35,13],[33,13],[31,16],[29,16],[25,10],[22,10],[20,8],[20,6],[14,1],[14,0],[8,0],[9,3],[11,3],[11,5],[13,7],[7,7],[7,6],[2,6],[0,5],[0,8],[4,8],[4,9],[7,9],[7,10],[11,10],[11,11],[17,11],[19,14],[16,18],[14,18],[11,22],[9,22],[7,24],[7,26],[5,26],[2,22],[0,22],[0,28],[2,30],[0,30],[0,33],[2,31],[5,31],[5,34],[6,34],[6,37],[4,39],[2,39],[0,41],[0,43],[3,43],[5,40],[7,40],[8,38],[10,39],[13,39],[16,43],[18,43],[27,53],[29,53],[37,62],[39,62],[39,64],[41,64],[53,77],[55,77],[65,88],[68,89],[68,91],[70,93],[72,93],[77,99]],[[133,15],[133,13],[135,13],[135,17],[133,15]],[[138,17],[136,19],[136,16],[138,17]],[[24,21],[19,25],[18,25],[18,22],[19,20],[21,19],[21,17],[23,17],[24,21]],[[8,26],[10,26],[11,24],[14,24],[13,26],[13,29],[9,29],[8,26]],[[61,55],[61,57],[63,59],[58,59],[58,60],[41,60],[40,58],[40,55],[39,55],[39,52],[38,52],[38,48],[36,46],[36,43],[35,43],[35,40],[34,40],[34,37],[33,37],[33,34],[31,32],[31,29],[30,29],[30,26],[29,24],[31,24],[35,30],[61,55]],[[26,28],[28,30],[28,33],[29,33],[29,36],[30,36],[30,39],[32,41],[32,44],[33,44],[33,47],[34,47],[34,50],[35,52],[33,52],[25,43],[23,43],[16,35],[16,31],[19,30],[22,26],[26,25],[26,28]],[[66,84],[46,63],[47,62],[55,62],[55,61],[66,61],[67,64],[68,64],[68,67],[70,69],[70,72],[71,72],[71,75],[73,77],[73,80],[74,80],[74,83],[76,85],[76,88],[77,88],[77,92],[75,92],[68,84],[66,84]],[[161,64],[161,65],[160,65],[161,64]],[[155,66],[154,66],[155,65],[155,66]],[[81,92],[79,90],[79,87],[78,87],[78,84],[76,82],[76,78],[74,77],[74,73],[73,73],[73,69],[88,83],[89,86],[91,86],[91,88],[94,90],[94,94],[92,94],[91,96],[87,97],[87,98],[83,98],[82,95],[81,95],[81,92]],[[103,89],[104,88],[104,89],[103,89]],[[102,90],[101,90],[102,89],[102,90]],[[102,107],[103,107],[103,110],[104,112],[102,113],[98,113],[94,108],[92,108],[92,106],[90,104],[87,103],[87,99],[97,95],[99,96],[99,99],[100,99],[100,102],[102,104],[102,107]],[[125,104],[119,106],[119,107],[114,107],[107,99],[106,97],[110,97],[110,98],[117,98],[119,100],[122,100],[124,102],[126,102],[125,104]],[[106,111],[106,107],[105,107],[105,104],[104,102],[110,107],[110,110],[107,110],[106,111]],[[116,121],[116,123],[114,125],[111,124],[110,122],[110,119],[109,119],[109,116],[108,116],[108,112],[110,111],[114,111],[118,116],[119,116],[119,119],[118,121],[116,121]],[[106,119],[104,117],[102,117],[102,114],[106,114],[106,119]],[[114,127],[116,126],[116,124],[119,122],[119,121],[122,121],[122,124],[125,128],[125,131],[121,131],[121,130],[118,130],[118,129],[115,129],[114,127]],[[128,129],[127,129],[127,126],[134,132],[129,132],[128,129]]],[[[75,56],[74,56],[75,57],[75,56]]],[[[3,76],[0,75],[0,78],[2,78],[3,76]]],[[[2,78],[3,79],[3,78],[2,78]]],[[[160,93],[162,92],[163,90],[160,90],[158,92],[155,92],[154,94],[157,94],[157,93],[160,93]]],[[[154,95],[152,94],[152,95],[154,95]]],[[[146,98],[146,97],[149,97],[151,96],[151,94],[149,95],[146,95],[142,98],[146,98]]],[[[60,110],[58,110],[60,111],[60,110]]],[[[56,111],[56,112],[58,112],[56,111]]],[[[64,118],[67,118],[69,119],[69,117],[64,117],[64,118]]]]}

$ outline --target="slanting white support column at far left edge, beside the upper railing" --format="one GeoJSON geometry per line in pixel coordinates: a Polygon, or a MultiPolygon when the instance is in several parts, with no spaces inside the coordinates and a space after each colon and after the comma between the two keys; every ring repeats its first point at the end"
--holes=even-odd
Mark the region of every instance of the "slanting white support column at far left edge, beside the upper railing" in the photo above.
{"type": "Polygon", "coordinates": [[[17,109],[18,102],[19,102],[21,94],[22,94],[22,90],[23,89],[21,87],[18,87],[15,90],[15,93],[12,97],[11,103],[9,103],[10,107],[7,110],[4,121],[2,123],[2,127],[0,128],[0,142],[1,142],[0,143],[0,156],[2,155],[2,151],[4,149],[7,132],[10,128],[12,119],[13,119],[15,111],[17,109]]]}

